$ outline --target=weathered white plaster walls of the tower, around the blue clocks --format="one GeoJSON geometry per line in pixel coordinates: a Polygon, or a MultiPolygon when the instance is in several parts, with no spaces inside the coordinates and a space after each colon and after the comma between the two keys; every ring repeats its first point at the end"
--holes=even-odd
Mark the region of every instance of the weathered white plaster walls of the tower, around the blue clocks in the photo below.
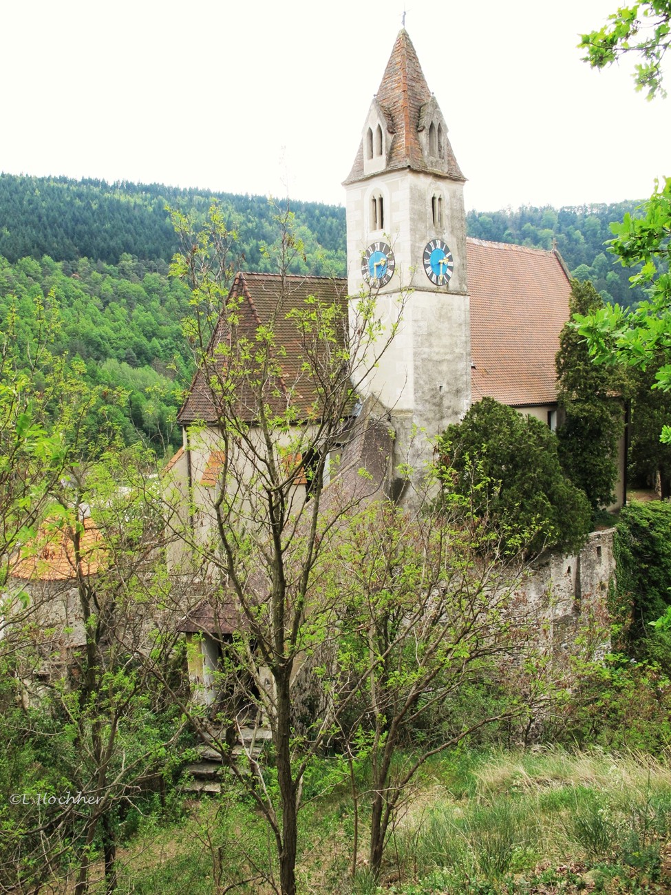
{"type": "MultiPolygon", "coordinates": [[[[433,438],[450,422],[459,422],[471,401],[463,183],[403,170],[350,184],[346,190],[350,294],[366,289],[361,256],[369,243],[384,239],[395,254],[394,276],[378,293],[378,319],[388,334],[404,295],[403,320],[361,392],[376,396],[403,421],[401,428],[407,432],[400,450],[407,455],[412,425],[433,438]],[[385,197],[383,233],[369,229],[370,197],[378,190],[385,197]],[[434,226],[431,213],[436,192],[443,197],[442,227],[434,226]],[[435,237],[443,239],[453,254],[454,273],[448,286],[433,286],[422,266],[424,247],[435,237]]],[[[353,307],[352,301],[352,326],[353,307]]],[[[426,458],[429,452],[424,447],[415,459],[426,458]]]]}

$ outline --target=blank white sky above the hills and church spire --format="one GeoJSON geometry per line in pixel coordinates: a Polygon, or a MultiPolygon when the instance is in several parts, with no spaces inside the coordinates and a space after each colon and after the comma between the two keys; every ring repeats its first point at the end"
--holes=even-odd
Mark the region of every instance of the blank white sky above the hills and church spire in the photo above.
{"type": "MultiPolygon", "coordinates": [[[[671,175],[671,99],[646,102],[628,68],[593,72],[575,48],[618,0],[406,4],[467,208],[638,199],[671,175]]],[[[0,0],[0,171],[273,195],[288,183],[294,199],[343,203],[402,11],[0,0]]]]}

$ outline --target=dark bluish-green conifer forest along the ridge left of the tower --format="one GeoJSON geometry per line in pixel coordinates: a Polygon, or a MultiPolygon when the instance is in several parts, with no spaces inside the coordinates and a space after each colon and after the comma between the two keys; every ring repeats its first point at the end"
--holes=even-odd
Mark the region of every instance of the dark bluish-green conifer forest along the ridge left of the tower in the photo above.
{"type": "MultiPolygon", "coordinates": [[[[274,269],[263,246],[272,246],[279,226],[277,209],[266,196],[66,177],[0,175],[0,255],[11,262],[49,255],[56,261],[89,258],[116,264],[123,253],[169,261],[178,246],[166,206],[204,219],[215,199],[229,229],[238,232],[241,266],[274,269]]],[[[292,210],[306,256],[295,272],[342,276],[344,208],[292,202],[292,210]]]]}

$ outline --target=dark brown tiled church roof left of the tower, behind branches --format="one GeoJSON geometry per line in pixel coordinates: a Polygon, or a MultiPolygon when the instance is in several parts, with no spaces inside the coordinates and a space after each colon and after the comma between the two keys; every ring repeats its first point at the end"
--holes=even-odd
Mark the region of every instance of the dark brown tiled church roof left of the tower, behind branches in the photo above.
{"type": "MultiPolygon", "coordinates": [[[[217,422],[221,415],[217,403],[227,400],[225,388],[232,388],[237,401],[236,415],[245,422],[254,422],[258,419],[260,379],[264,383],[263,400],[274,413],[282,413],[287,406],[291,406],[300,419],[319,414],[316,388],[302,370],[306,345],[302,343],[296,320],[292,319],[292,312],[308,308],[307,302],[311,296],[325,304],[342,308],[346,326],[345,279],[237,273],[226,299],[226,307],[219,314],[210,340],[208,373],[199,371],[194,376],[177,421],[182,425],[196,421],[217,422]],[[233,308],[237,309],[234,323],[230,313],[233,308]],[[231,347],[234,358],[236,345],[246,343],[256,347],[257,336],[265,327],[272,328],[275,342],[271,354],[276,366],[270,375],[264,376],[251,359],[245,364],[235,363],[234,359],[229,362],[225,352],[221,352],[221,349],[231,347]],[[243,366],[248,368],[244,376],[241,369],[235,369],[243,366]]],[[[251,358],[254,354],[251,351],[251,358]]]]}

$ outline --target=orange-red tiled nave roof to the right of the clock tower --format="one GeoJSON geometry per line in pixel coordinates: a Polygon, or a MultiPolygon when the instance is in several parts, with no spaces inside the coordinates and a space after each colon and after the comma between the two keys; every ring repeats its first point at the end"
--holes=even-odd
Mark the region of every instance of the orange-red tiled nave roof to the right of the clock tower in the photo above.
{"type": "Polygon", "coordinates": [[[571,284],[556,251],[466,240],[471,395],[512,406],[556,401],[555,355],[571,284]]]}

